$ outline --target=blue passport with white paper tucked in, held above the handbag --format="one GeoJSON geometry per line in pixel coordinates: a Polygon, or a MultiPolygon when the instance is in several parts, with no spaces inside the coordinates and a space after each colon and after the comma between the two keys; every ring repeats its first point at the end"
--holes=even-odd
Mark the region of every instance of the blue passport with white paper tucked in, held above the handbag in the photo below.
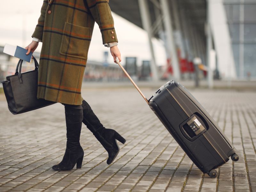
{"type": "Polygon", "coordinates": [[[10,44],[5,44],[3,52],[8,55],[17,57],[21,60],[27,61],[27,62],[30,62],[31,58],[32,58],[32,52],[30,52],[28,55],[26,55],[26,52],[28,52],[28,50],[24,49],[20,46],[13,46],[10,44]]]}

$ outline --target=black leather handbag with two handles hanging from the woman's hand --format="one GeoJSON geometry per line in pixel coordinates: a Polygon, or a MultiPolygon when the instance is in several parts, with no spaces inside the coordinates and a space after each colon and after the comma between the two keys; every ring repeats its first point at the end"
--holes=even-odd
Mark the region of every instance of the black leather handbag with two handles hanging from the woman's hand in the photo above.
{"type": "Polygon", "coordinates": [[[56,103],[49,100],[37,99],[39,65],[36,58],[33,57],[33,59],[35,62],[35,70],[21,73],[23,60],[20,59],[15,74],[7,76],[4,81],[1,81],[1,83],[3,83],[8,109],[14,115],[56,103]]]}

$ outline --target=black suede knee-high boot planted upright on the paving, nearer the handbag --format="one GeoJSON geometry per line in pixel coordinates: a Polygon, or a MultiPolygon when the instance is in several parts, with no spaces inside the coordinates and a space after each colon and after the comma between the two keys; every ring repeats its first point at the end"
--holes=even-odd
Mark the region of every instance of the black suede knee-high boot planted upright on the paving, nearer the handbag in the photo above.
{"type": "Polygon", "coordinates": [[[68,171],[76,168],[81,168],[84,150],[80,145],[80,133],[83,120],[83,109],[81,105],[65,105],[65,118],[67,126],[67,145],[62,161],[53,165],[52,169],[57,171],[68,171]]]}

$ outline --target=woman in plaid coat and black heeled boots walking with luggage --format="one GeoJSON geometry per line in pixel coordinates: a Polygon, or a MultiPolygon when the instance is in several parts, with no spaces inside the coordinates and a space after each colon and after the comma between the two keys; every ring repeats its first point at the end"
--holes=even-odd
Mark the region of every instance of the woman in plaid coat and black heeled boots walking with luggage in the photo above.
{"type": "Polygon", "coordinates": [[[34,52],[42,42],[38,71],[37,98],[65,106],[67,145],[62,161],[52,169],[68,171],[81,168],[84,150],[80,145],[82,122],[108,152],[107,164],[116,158],[125,139],[113,129],[106,129],[81,96],[84,69],[95,21],[102,42],[111,55],[121,61],[114,20],[108,0],[44,0],[32,42],[25,48],[34,52]]]}

